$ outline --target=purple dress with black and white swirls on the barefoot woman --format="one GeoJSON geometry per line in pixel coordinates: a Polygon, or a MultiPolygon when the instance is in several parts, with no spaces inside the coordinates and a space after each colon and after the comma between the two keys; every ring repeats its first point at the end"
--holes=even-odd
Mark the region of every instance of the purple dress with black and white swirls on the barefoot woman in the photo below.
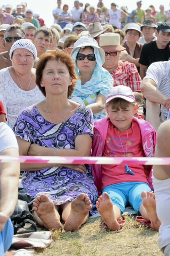
{"type": "MultiPolygon", "coordinates": [[[[13,131],[16,137],[42,147],[75,149],[77,135],[87,133],[93,139],[93,113],[89,107],[80,105],[69,119],[60,124],[53,124],[45,120],[37,107],[32,105],[22,111],[13,131]]],[[[91,214],[95,210],[98,193],[89,165],[86,165],[85,173],[68,167],[25,171],[22,175],[22,184],[28,194],[34,197],[46,194],[57,205],[72,201],[83,192],[88,194],[91,200],[91,214]]]]}

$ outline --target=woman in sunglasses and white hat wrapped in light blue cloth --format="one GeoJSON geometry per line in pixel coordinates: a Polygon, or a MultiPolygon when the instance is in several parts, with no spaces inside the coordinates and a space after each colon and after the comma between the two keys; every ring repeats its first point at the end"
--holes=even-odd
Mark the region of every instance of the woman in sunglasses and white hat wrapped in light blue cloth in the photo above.
{"type": "Polygon", "coordinates": [[[93,111],[94,119],[106,117],[103,104],[113,87],[113,79],[102,67],[105,52],[95,39],[83,36],[75,42],[71,56],[75,62],[77,76],[80,77],[73,91],[72,100],[88,105],[93,111]]]}

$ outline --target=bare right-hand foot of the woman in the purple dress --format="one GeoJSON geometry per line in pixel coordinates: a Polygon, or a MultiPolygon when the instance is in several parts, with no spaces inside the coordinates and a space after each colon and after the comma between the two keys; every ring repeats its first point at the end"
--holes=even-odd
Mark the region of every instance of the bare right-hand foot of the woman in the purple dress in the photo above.
{"type": "Polygon", "coordinates": [[[88,217],[89,210],[91,210],[91,202],[87,194],[79,194],[71,202],[71,212],[64,224],[64,230],[77,230],[88,217]]]}

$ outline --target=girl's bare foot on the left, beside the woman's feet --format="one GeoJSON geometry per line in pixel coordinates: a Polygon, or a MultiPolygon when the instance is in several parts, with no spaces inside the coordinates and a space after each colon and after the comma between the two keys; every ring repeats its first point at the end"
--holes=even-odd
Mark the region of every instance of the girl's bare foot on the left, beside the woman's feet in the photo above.
{"type": "Polygon", "coordinates": [[[103,196],[99,196],[96,202],[96,208],[101,214],[101,218],[104,220],[110,230],[119,230],[120,226],[117,219],[115,218],[113,203],[107,192],[104,192],[103,196]]]}

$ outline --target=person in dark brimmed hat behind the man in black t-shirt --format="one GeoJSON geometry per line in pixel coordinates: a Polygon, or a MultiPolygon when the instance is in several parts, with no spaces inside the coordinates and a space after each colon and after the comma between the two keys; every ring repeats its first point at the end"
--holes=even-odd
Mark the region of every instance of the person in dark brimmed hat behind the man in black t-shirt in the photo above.
{"type": "Polygon", "coordinates": [[[142,31],[142,36],[140,36],[138,42],[145,44],[146,42],[156,41],[156,36],[154,36],[157,26],[152,20],[144,20],[143,24],[140,26],[142,31]]]}

